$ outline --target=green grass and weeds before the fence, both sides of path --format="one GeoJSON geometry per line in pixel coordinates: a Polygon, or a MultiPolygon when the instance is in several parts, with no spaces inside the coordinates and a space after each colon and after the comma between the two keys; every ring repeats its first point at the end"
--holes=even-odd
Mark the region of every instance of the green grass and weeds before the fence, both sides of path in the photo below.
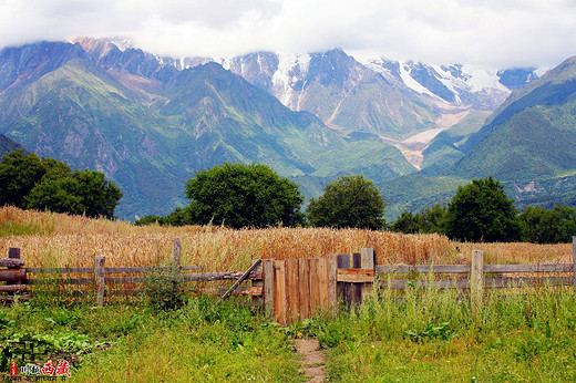
{"type": "Polygon", "coordinates": [[[0,348],[19,365],[66,360],[80,382],[301,382],[290,339],[317,337],[335,382],[573,382],[575,303],[572,288],[491,291],[477,311],[455,290],[377,290],[351,311],[280,328],[206,297],[164,312],[146,299],[95,308],[40,294],[0,309],[0,348]],[[34,340],[35,360],[21,339],[34,340]]]}

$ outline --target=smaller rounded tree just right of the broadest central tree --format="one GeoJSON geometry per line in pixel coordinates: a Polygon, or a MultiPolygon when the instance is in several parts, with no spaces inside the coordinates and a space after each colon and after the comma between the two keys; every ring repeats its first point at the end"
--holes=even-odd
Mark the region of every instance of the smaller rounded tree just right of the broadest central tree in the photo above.
{"type": "Polygon", "coordinates": [[[342,176],[308,205],[308,219],[316,227],[385,227],[384,200],[374,184],[361,175],[342,176]]]}

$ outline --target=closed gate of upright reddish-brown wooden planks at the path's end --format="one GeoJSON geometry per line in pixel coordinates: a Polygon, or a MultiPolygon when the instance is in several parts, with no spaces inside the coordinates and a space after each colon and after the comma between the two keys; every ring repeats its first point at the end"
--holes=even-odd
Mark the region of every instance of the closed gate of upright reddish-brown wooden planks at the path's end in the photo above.
{"type": "Polygon", "coordinates": [[[370,293],[374,279],[374,251],[330,255],[315,259],[263,259],[263,298],[266,312],[282,325],[338,304],[354,304],[370,293]]]}

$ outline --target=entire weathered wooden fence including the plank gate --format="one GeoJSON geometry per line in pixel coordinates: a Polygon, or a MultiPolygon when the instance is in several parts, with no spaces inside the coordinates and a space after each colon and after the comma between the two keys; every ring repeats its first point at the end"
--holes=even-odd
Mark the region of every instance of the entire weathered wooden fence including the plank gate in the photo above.
{"type": "Polygon", "coordinates": [[[17,292],[25,293],[29,284],[45,283],[47,278],[30,278],[45,273],[59,276],[59,283],[62,284],[93,284],[97,304],[103,304],[104,297],[114,293],[113,284],[131,286],[132,293],[137,293],[136,284],[145,282],[145,275],[153,270],[168,272],[181,281],[236,280],[222,299],[233,292],[253,296],[269,315],[286,325],[321,311],[333,310],[340,303],[360,303],[377,281],[388,289],[424,287],[429,283],[440,289],[470,289],[474,306],[480,304],[486,288],[546,284],[574,286],[576,289],[576,237],[573,239],[572,263],[484,265],[483,252],[474,250],[471,265],[376,265],[373,249],[362,249],[359,253],[330,255],[319,259],[258,259],[245,272],[183,273],[199,267],[181,266],[181,245],[176,239],[172,266],[166,268],[111,268],[105,266],[104,257],[95,257],[93,268],[24,268],[20,250],[14,248],[9,249],[8,259],[0,259],[0,267],[7,268],[0,270],[0,281],[6,281],[4,286],[0,286],[0,292],[8,293],[1,297],[3,300],[12,300],[17,292]],[[79,273],[90,273],[91,277],[74,277],[79,273]],[[428,278],[426,275],[431,273],[433,278],[428,278]],[[111,275],[115,277],[109,277],[111,275]],[[395,278],[398,275],[401,278],[395,278]],[[443,278],[445,275],[451,277],[443,278]],[[251,287],[240,287],[245,280],[251,281],[251,287]]]}

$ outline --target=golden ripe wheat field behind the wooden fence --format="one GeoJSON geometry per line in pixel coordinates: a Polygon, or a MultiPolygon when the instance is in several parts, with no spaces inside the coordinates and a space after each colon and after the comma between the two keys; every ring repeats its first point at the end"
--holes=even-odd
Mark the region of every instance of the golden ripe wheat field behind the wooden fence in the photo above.
{"type": "Polygon", "coordinates": [[[439,235],[402,235],[359,229],[268,228],[233,230],[215,226],[136,227],[125,221],[0,208],[0,251],[21,249],[29,267],[166,265],[175,238],[182,265],[206,271],[238,271],[251,259],[321,258],[373,248],[379,263],[467,263],[484,250],[490,263],[572,262],[572,244],[461,244],[439,235]],[[18,235],[13,235],[18,234],[18,235]]]}

